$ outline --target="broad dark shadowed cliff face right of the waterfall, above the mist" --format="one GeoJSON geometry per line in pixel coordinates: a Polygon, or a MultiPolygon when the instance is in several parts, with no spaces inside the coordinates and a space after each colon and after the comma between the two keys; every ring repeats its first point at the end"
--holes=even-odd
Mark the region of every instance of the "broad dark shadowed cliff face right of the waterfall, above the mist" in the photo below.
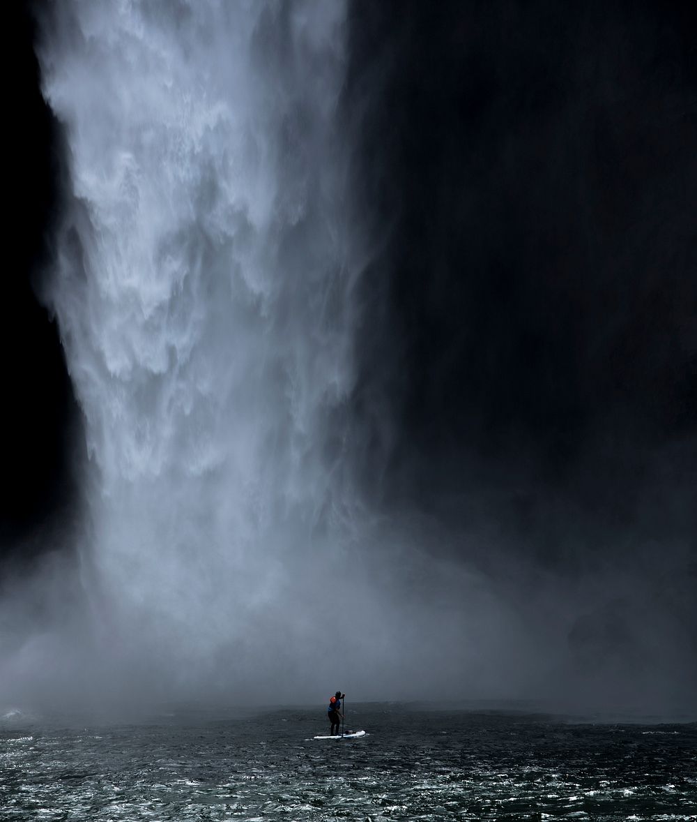
{"type": "Polygon", "coordinates": [[[465,528],[502,520],[553,565],[572,542],[689,542],[694,14],[414,2],[350,16],[372,252],[366,483],[465,528]]]}

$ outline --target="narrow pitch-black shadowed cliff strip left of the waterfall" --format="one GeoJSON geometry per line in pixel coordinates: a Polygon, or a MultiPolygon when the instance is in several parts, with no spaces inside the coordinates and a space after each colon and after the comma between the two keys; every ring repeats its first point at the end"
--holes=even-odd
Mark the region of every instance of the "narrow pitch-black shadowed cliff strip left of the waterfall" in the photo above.
{"type": "Polygon", "coordinates": [[[5,30],[12,76],[5,128],[8,257],[0,320],[0,558],[20,558],[57,547],[51,543],[57,543],[76,509],[75,471],[82,450],[80,415],[57,326],[35,293],[51,261],[64,149],[39,92],[30,7],[12,4],[5,30]]]}

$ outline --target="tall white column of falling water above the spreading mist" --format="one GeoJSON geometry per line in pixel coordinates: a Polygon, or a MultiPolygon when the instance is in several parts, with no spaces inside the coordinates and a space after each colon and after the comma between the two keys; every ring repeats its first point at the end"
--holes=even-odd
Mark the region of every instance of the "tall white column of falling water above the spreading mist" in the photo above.
{"type": "Polygon", "coordinates": [[[350,505],[344,13],[76,2],[40,52],[70,148],[47,299],[85,416],[99,641],[170,681],[221,658],[243,677],[307,621],[322,644],[350,505]]]}

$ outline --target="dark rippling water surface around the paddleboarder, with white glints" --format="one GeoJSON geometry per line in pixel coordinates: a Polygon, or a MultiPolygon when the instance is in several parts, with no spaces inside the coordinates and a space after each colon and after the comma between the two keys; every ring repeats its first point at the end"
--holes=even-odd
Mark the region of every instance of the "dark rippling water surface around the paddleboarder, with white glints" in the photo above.
{"type": "Polygon", "coordinates": [[[697,723],[359,706],[0,720],[2,820],[697,820],[697,723]],[[346,727],[348,730],[348,726],[346,727]]]}

